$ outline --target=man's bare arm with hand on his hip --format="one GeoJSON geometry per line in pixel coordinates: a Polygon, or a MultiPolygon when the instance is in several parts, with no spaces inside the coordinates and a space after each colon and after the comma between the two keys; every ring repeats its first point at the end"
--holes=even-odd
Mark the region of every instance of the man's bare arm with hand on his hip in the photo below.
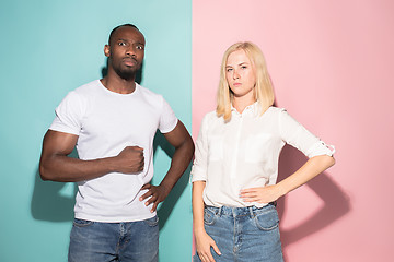
{"type": "Polygon", "coordinates": [[[150,198],[146,205],[153,203],[151,212],[154,212],[160,202],[169,195],[172,188],[182,177],[189,165],[194,154],[194,143],[185,126],[178,121],[174,130],[164,134],[164,138],[175,147],[175,153],[171,160],[171,167],[159,186],[147,183],[142,189],[148,189],[140,201],[150,198]]]}

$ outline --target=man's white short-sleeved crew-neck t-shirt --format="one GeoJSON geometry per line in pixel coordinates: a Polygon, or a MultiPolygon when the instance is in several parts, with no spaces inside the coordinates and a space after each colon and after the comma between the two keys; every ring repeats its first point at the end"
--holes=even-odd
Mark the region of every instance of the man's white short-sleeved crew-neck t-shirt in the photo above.
{"type": "Polygon", "coordinates": [[[71,91],[56,108],[50,130],[79,135],[80,159],[116,156],[126,146],[143,148],[144,168],[139,174],[112,172],[78,182],[76,218],[95,222],[132,222],[155,215],[138,198],[153,177],[153,138],[159,129],[177,123],[170,105],[138,84],[131,94],[107,90],[100,80],[71,91]]]}

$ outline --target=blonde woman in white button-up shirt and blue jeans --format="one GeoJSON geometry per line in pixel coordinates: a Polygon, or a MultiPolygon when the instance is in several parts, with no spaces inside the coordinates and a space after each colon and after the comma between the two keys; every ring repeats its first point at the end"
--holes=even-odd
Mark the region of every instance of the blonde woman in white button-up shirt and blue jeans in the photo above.
{"type": "Polygon", "coordinates": [[[259,48],[252,43],[229,47],[217,109],[205,116],[196,141],[194,261],[283,261],[275,201],[334,165],[334,152],[273,104],[259,48]],[[310,159],[276,183],[286,143],[310,159]]]}

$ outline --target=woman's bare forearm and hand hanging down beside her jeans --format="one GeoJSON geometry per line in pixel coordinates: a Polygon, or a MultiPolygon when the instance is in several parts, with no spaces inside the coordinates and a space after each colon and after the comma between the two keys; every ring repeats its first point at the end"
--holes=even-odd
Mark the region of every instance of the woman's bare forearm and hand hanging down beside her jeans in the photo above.
{"type": "Polygon", "coordinates": [[[193,204],[193,229],[196,238],[196,250],[202,261],[215,262],[210,252],[210,247],[215,252],[221,254],[213,239],[204,228],[204,200],[202,192],[206,187],[205,181],[193,182],[192,204],[193,204]]]}

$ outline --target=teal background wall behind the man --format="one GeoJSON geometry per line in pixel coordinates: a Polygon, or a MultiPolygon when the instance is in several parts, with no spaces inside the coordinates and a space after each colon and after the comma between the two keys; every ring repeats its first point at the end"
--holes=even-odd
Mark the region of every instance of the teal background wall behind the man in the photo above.
{"type": "MultiPolygon", "coordinates": [[[[192,0],[1,1],[1,261],[67,261],[76,189],[39,179],[42,140],[63,96],[102,78],[103,47],[124,23],[147,39],[141,85],[192,131],[192,0]]],[[[155,145],[157,184],[172,148],[160,135],[155,145]]],[[[190,260],[188,172],[159,211],[162,262],[190,260]]]]}

